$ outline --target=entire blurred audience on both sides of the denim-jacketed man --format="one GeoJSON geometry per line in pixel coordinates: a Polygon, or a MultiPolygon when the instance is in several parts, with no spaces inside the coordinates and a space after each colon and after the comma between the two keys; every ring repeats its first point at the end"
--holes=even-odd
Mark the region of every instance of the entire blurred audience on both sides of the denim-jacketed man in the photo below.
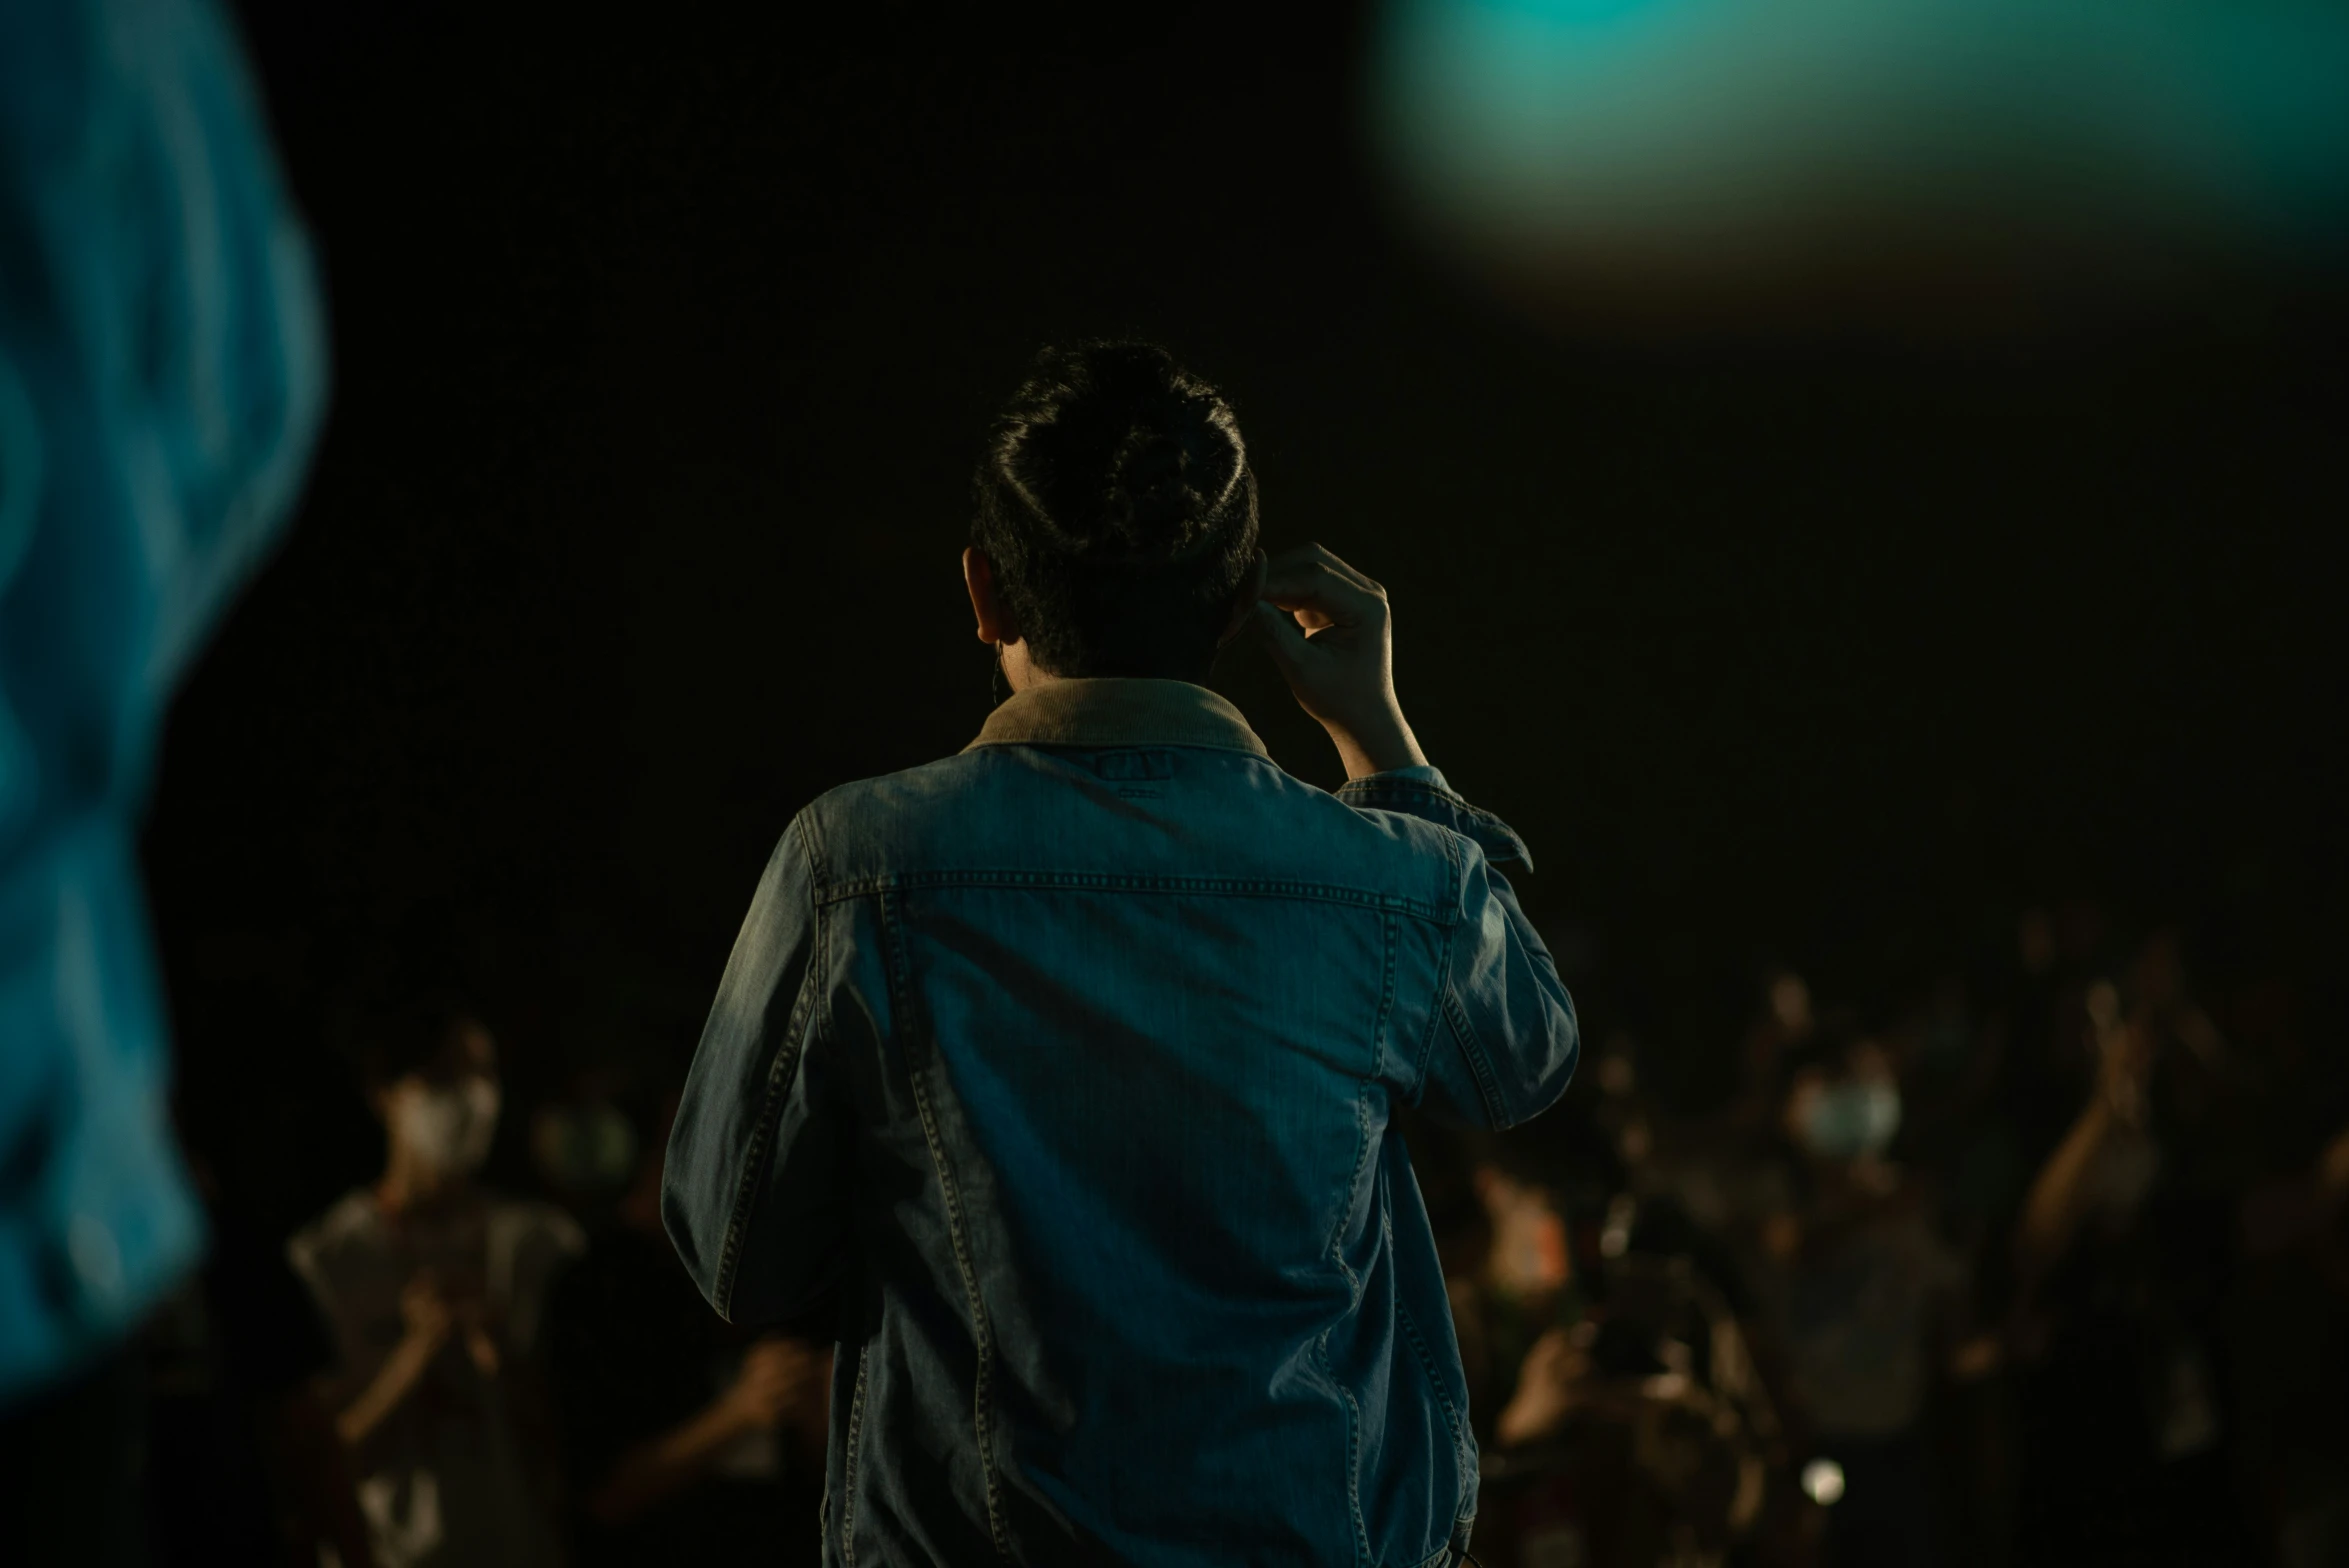
{"type": "MultiPolygon", "coordinates": [[[[2349,1082],[2290,988],[2077,906],[1889,995],[1759,976],[1710,1103],[1614,1035],[1529,1129],[1407,1122],[1478,1559],[2349,1561],[2349,1082]]],[[[453,995],[345,1054],[381,1171],[291,1237],[207,1181],[146,1331],[155,1561],[817,1561],[832,1347],[669,1251],[677,1056],[503,1117],[453,995]]]]}

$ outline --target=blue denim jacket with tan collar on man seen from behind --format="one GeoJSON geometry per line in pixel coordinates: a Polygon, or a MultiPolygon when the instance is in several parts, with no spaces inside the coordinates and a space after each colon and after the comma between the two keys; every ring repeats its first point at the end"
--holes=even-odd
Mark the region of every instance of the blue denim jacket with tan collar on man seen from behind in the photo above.
{"type": "Polygon", "coordinates": [[[1510,1127],[1574,1002],[1433,768],[1179,681],[1015,695],[785,831],[669,1138],[761,1324],[836,1291],[824,1563],[1449,1561],[1478,1453],[1391,1108],[1510,1127]]]}

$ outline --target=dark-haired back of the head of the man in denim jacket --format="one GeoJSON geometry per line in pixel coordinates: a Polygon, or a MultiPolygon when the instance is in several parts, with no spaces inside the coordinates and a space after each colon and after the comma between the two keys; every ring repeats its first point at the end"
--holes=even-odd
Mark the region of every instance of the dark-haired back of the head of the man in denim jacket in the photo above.
{"type": "Polygon", "coordinates": [[[1055,676],[1196,678],[1257,554],[1224,394],[1149,343],[1055,345],[977,474],[970,542],[1055,676]]]}

